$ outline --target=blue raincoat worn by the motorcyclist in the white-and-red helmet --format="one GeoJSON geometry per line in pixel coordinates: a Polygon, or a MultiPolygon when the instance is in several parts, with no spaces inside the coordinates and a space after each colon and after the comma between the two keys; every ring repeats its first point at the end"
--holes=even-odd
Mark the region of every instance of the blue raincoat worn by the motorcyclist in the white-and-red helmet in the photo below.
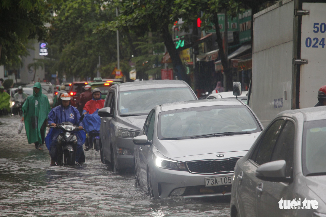
{"type": "MultiPolygon", "coordinates": [[[[82,126],[82,122],[79,123],[80,114],[77,108],[73,106],[67,106],[66,108],[62,105],[52,108],[48,115],[48,123],[62,123],[62,122],[70,122],[74,125],[82,126]],[[78,124],[79,123],[79,124],[78,124]]],[[[51,148],[56,148],[57,137],[62,131],[57,128],[50,128],[48,135],[45,138],[45,144],[48,148],[50,155],[51,148]]],[[[82,145],[85,142],[86,133],[82,130],[72,132],[77,136],[77,152],[76,152],[76,162],[79,162],[79,158],[82,155],[83,149],[82,145]]],[[[53,155],[53,154],[52,154],[53,155]]],[[[51,156],[52,158],[56,158],[56,156],[51,156]]]]}

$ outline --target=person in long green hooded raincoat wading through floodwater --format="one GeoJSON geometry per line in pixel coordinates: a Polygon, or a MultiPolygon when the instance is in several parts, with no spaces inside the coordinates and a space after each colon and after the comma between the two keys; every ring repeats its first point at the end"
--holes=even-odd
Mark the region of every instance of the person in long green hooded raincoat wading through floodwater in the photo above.
{"type": "Polygon", "coordinates": [[[51,107],[48,97],[42,94],[40,82],[34,84],[33,95],[27,97],[22,105],[22,111],[28,144],[34,142],[36,149],[43,150],[46,122],[51,107]]]}

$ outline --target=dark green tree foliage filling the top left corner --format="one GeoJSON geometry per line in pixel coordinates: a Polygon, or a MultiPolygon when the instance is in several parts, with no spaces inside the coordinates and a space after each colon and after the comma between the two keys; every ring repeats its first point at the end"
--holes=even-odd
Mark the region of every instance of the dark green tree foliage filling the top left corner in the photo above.
{"type": "Polygon", "coordinates": [[[37,36],[46,36],[44,23],[50,1],[1,0],[0,5],[0,65],[20,63],[20,56],[28,55],[27,43],[37,36]]]}

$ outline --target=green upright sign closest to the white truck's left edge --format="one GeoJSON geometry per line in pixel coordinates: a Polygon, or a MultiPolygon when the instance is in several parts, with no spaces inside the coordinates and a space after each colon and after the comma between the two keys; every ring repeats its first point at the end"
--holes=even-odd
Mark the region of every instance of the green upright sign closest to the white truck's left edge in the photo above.
{"type": "Polygon", "coordinates": [[[251,9],[239,14],[240,43],[251,40],[251,9]]]}

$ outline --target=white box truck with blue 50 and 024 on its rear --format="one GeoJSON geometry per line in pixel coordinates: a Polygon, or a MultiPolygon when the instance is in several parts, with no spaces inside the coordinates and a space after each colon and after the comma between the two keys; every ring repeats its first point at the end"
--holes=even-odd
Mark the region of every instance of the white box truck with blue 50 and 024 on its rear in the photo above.
{"type": "Polygon", "coordinates": [[[248,105],[264,126],[283,110],[318,103],[326,85],[325,38],[325,0],[283,0],[254,14],[248,105]]]}

